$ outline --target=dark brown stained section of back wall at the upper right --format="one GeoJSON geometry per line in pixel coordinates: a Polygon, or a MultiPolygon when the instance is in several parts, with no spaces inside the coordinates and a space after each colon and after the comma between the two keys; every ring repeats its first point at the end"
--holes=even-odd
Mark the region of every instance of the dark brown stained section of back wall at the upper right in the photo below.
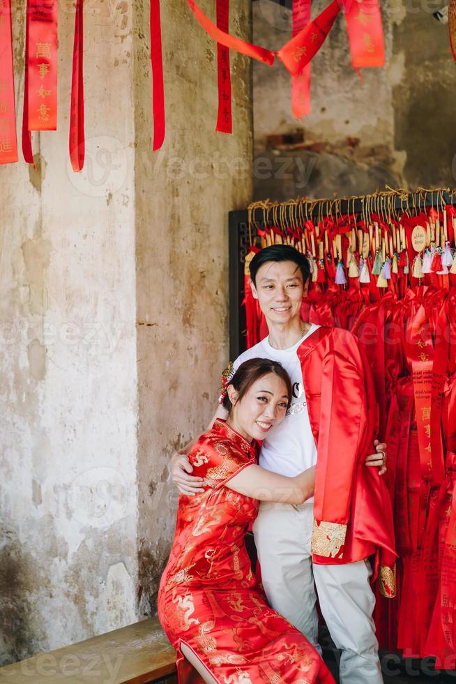
{"type": "Polygon", "coordinates": [[[390,0],[395,147],[411,188],[455,187],[456,73],[448,27],[432,17],[440,8],[434,0],[390,0]]]}

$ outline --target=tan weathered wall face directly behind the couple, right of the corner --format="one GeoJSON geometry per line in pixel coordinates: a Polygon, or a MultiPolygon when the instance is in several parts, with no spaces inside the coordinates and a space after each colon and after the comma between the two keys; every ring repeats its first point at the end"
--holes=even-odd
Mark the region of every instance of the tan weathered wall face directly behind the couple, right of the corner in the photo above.
{"type": "MultiPolygon", "coordinates": [[[[231,52],[233,135],[216,133],[215,43],[186,3],[162,3],[167,132],[152,154],[149,9],[135,6],[139,573],[149,611],[174,528],[169,457],[207,424],[228,359],[227,213],[252,197],[251,66],[231,52]]],[[[213,16],[209,0],[202,8],[213,16]]],[[[231,4],[230,27],[249,37],[249,0],[231,4]]]]}

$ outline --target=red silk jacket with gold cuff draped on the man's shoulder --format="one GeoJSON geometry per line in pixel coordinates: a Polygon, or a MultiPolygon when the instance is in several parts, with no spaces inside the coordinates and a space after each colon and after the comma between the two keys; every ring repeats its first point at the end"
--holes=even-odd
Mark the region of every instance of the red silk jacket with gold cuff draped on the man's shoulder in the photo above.
{"type": "Polygon", "coordinates": [[[365,466],[377,436],[372,376],[356,337],[319,327],[298,348],[310,426],[317,445],[314,563],[354,563],[375,554],[383,595],[395,595],[390,495],[365,466]]]}

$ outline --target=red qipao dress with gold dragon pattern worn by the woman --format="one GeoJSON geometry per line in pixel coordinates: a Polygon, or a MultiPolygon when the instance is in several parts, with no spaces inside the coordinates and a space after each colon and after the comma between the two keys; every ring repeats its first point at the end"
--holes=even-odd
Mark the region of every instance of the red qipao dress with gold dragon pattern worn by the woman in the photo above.
{"type": "Polygon", "coordinates": [[[177,650],[179,681],[201,681],[181,653],[187,644],[222,684],[332,684],[317,651],[268,607],[252,573],[244,537],[258,501],[225,484],[256,463],[255,445],[216,420],[189,459],[206,488],[179,496],[158,593],[158,616],[177,650]]]}

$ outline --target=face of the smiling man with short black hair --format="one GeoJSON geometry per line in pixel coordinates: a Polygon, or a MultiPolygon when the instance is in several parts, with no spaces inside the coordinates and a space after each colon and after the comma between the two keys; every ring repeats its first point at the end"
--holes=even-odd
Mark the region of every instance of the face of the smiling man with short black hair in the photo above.
{"type": "Polygon", "coordinates": [[[303,274],[293,261],[267,261],[259,267],[252,294],[267,321],[287,323],[301,311],[303,274]]]}

